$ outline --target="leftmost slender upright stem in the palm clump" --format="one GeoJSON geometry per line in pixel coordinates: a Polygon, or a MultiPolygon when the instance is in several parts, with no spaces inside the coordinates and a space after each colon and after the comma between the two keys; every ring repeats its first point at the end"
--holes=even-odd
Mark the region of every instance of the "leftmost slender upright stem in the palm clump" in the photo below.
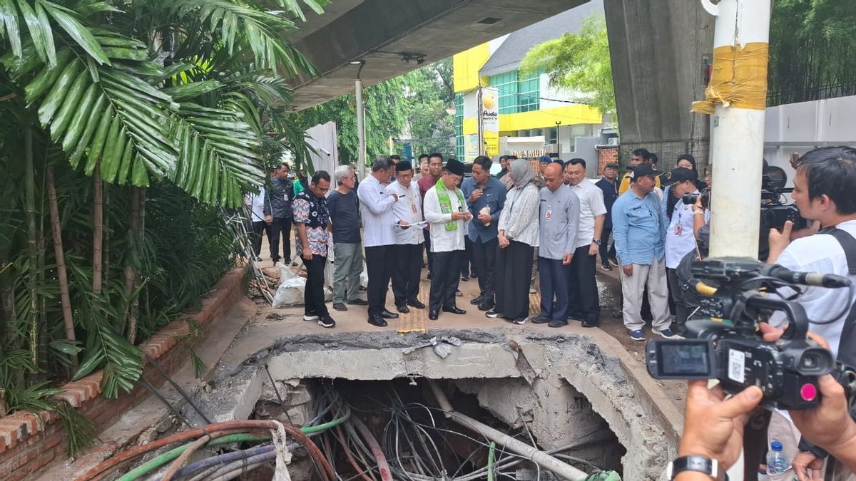
{"type": "Polygon", "coordinates": [[[33,129],[24,130],[24,189],[27,214],[27,254],[30,272],[27,276],[27,291],[30,295],[30,361],[33,369],[39,365],[39,290],[36,285],[39,252],[36,238],[36,179],[33,165],[33,129]]]}

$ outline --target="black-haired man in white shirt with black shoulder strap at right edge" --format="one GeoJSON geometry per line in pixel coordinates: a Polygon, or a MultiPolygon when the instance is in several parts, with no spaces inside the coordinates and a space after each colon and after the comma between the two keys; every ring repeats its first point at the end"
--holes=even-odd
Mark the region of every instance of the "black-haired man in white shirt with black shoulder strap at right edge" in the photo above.
{"type": "MultiPolygon", "coordinates": [[[[790,270],[849,276],[856,282],[856,195],[853,194],[856,149],[847,146],[815,149],[800,157],[794,167],[794,203],[800,216],[814,221],[814,226],[792,232],[793,223],[788,221],[781,233],[770,229],[767,262],[790,270]],[[815,230],[818,224],[819,232],[815,230]]],[[[779,292],[792,294],[790,289],[779,292]]],[[[850,293],[843,288],[805,288],[800,304],[810,320],[809,329],[829,341],[830,350],[839,360],[856,365],[853,327],[856,319],[847,320],[853,306],[850,293]]],[[[796,419],[794,424],[802,427],[796,419]]],[[[771,431],[776,431],[774,423],[771,431]]],[[[794,453],[796,448],[791,444],[786,450],[794,453]]],[[[800,480],[809,479],[806,468],[813,473],[819,471],[823,456],[822,450],[800,442],[800,452],[791,463],[800,480]]]]}

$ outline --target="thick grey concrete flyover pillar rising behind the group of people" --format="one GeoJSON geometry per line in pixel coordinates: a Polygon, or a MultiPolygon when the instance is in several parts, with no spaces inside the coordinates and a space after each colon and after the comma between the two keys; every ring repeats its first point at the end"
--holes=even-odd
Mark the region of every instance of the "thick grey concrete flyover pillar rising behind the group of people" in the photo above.
{"type": "Polygon", "coordinates": [[[672,168],[692,153],[707,164],[709,116],[690,112],[704,98],[714,17],[698,0],[603,0],[621,129],[621,154],[645,147],[672,168]]]}

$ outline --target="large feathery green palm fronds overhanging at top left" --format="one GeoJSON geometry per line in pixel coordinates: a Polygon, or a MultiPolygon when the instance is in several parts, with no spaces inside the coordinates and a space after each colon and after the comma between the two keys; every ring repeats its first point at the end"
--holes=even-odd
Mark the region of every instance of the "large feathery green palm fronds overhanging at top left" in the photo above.
{"type": "MultiPolygon", "coordinates": [[[[294,22],[253,3],[3,5],[0,62],[74,168],[101,163],[104,181],[140,187],[167,179],[208,204],[237,207],[265,178],[256,105],[288,104],[277,70],[314,72],[282,39],[294,22]]],[[[296,1],[282,7],[304,16],[296,1]]]]}

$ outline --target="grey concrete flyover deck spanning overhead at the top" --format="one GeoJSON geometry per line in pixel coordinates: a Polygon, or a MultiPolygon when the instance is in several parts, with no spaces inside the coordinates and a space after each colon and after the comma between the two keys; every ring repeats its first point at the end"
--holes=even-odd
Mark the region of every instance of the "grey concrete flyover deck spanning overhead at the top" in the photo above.
{"type": "Polygon", "coordinates": [[[336,0],[289,39],[318,69],[294,81],[294,110],[354,91],[357,66],[366,86],[419,68],[404,54],[436,62],[588,0],[336,0]]]}

